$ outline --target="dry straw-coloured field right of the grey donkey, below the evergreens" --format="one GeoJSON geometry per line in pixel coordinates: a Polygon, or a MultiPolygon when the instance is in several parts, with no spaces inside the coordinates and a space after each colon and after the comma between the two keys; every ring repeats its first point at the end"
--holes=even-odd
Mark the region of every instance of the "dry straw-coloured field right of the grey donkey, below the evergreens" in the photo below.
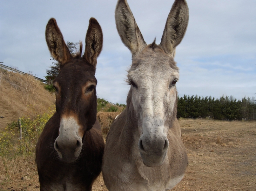
{"type": "Polygon", "coordinates": [[[173,190],[255,190],[256,136],[251,132],[256,122],[182,119],[180,124],[189,165],[173,190]]]}

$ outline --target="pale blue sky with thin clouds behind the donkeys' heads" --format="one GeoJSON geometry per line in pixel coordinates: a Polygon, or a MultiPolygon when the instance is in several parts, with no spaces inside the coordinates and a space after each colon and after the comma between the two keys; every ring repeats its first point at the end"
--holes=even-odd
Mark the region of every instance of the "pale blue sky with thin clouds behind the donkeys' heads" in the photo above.
{"type": "MultiPolygon", "coordinates": [[[[126,84],[132,54],[121,42],[115,26],[117,0],[1,0],[0,62],[33,72],[45,79],[52,66],[45,42],[45,27],[54,17],[67,42],[83,41],[90,17],[100,23],[103,50],[97,59],[97,96],[126,103],[126,84]]],[[[174,0],[128,0],[136,23],[150,44],[161,42],[174,0]]],[[[256,1],[187,0],[189,24],[175,61],[180,68],[178,95],[256,94],[256,1]]]]}

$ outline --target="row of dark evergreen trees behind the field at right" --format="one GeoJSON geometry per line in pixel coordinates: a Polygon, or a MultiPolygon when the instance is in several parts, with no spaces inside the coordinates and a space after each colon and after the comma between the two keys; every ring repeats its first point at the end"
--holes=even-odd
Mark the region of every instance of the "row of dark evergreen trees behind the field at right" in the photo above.
{"type": "Polygon", "coordinates": [[[256,119],[256,104],[254,98],[236,100],[233,96],[221,96],[220,99],[211,96],[178,97],[177,118],[213,118],[218,120],[254,120],[256,119]]]}

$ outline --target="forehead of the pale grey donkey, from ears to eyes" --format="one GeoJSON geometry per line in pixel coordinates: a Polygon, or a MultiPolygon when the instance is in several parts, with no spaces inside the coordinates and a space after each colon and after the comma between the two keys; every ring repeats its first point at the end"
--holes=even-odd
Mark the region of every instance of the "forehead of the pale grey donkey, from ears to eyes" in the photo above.
{"type": "Polygon", "coordinates": [[[179,78],[178,67],[172,56],[162,49],[145,48],[139,55],[133,58],[128,78],[179,78]]]}

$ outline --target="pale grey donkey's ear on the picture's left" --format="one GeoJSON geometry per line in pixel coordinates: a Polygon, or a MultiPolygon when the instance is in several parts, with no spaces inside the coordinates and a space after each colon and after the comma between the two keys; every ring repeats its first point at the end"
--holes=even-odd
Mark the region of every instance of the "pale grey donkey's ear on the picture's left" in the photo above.
{"type": "Polygon", "coordinates": [[[139,27],[137,26],[127,0],[119,0],[117,2],[115,21],[116,28],[122,42],[128,47],[133,55],[136,55],[146,47],[147,44],[143,39],[139,27]]]}

